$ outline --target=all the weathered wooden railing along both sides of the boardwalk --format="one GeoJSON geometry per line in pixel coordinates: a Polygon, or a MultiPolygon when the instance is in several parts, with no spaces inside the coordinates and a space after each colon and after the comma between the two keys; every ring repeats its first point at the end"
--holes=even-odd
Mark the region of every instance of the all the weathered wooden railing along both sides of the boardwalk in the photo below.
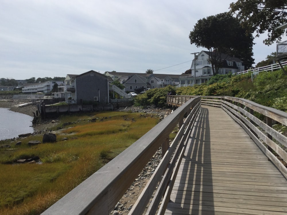
{"type": "Polygon", "coordinates": [[[190,136],[201,105],[225,110],[287,178],[282,163],[287,162],[287,138],[272,128],[274,122],[287,126],[286,112],[227,96],[170,95],[167,103],[181,103],[181,106],[42,214],[108,215],[160,146],[162,160],[129,215],[143,214],[151,198],[146,214],[156,214],[157,210],[158,214],[164,214],[185,150],[184,143],[190,136]],[[169,134],[177,124],[180,130],[169,145],[169,134]]]}

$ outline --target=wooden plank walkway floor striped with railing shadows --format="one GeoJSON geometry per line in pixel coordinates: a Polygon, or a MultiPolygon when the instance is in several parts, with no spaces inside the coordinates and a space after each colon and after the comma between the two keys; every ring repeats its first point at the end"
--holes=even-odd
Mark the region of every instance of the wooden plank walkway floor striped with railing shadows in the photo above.
{"type": "Polygon", "coordinates": [[[287,181],[224,110],[201,106],[165,214],[287,214],[287,181]]]}

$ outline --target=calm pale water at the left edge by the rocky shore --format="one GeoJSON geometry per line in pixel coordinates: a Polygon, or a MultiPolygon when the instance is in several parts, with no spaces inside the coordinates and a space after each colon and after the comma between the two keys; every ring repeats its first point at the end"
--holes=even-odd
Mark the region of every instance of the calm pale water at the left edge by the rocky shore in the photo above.
{"type": "Polygon", "coordinates": [[[9,111],[0,107],[0,140],[18,137],[19,134],[33,133],[32,116],[9,111]]]}

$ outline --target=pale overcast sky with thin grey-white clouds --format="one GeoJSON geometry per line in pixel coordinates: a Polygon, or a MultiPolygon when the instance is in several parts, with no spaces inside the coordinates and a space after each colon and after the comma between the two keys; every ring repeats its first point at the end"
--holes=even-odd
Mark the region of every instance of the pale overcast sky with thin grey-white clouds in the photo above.
{"type": "MultiPolygon", "coordinates": [[[[0,78],[182,74],[190,53],[206,50],[190,44],[194,25],[229,11],[232,1],[0,0],[0,78]]],[[[276,51],[263,39],[254,40],[255,63],[276,51]]]]}

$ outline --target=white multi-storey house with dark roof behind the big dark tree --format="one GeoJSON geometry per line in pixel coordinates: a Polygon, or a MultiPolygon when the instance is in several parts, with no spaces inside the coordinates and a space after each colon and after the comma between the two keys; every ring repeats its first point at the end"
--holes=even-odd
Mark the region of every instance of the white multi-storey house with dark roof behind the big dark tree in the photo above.
{"type": "MultiPolygon", "coordinates": [[[[181,75],[179,80],[184,81],[184,84],[179,86],[189,86],[207,82],[213,76],[212,65],[209,62],[208,51],[201,51],[196,59],[191,63],[191,74],[181,75]],[[194,66],[195,65],[195,66],[194,66]],[[195,69],[194,69],[195,68],[195,69]]],[[[221,54],[223,61],[222,68],[219,69],[219,74],[238,73],[244,71],[245,67],[242,65],[243,61],[236,57],[231,57],[227,54],[221,54]]]]}

